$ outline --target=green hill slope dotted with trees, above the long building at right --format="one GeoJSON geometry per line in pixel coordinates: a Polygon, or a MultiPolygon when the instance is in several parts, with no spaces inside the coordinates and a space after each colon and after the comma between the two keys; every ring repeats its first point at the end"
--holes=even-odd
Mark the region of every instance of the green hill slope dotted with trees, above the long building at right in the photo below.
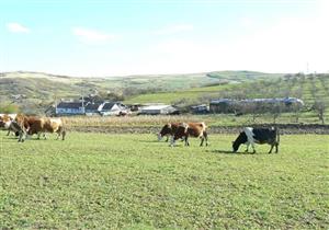
{"type": "Polygon", "coordinates": [[[288,76],[285,78],[260,78],[243,83],[218,83],[212,87],[201,87],[173,92],[160,92],[136,95],[127,99],[126,103],[162,102],[177,103],[186,100],[190,103],[200,102],[202,99],[234,97],[286,97],[303,99],[307,104],[316,99],[329,101],[329,74],[322,76],[288,76]]]}

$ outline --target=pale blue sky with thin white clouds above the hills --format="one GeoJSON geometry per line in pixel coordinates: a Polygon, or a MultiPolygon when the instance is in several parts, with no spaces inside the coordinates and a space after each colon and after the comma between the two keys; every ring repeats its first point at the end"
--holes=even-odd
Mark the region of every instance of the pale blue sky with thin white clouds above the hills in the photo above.
{"type": "Polygon", "coordinates": [[[0,72],[329,72],[327,0],[0,0],[0,72]]]}

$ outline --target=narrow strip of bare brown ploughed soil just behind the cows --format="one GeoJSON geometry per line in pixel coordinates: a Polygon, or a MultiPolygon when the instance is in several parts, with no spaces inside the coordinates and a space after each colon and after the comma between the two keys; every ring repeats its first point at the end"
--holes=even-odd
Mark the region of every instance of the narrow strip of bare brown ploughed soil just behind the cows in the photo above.
{"type": "MultiPolygon", "coordinates": [[[[261,127],[264,125],[248,125],[252,127],[261,127]]],[[[274,124],[268,124],[266,127],[274,126],[274,124]]],[[[280,134],[293,135],[293,134],[318,134],[329,135],[329,125],[297,125],[297,124],[276,124],[280,129],[280,134]]],[[[212,126],[208,128],[209,134],[237,134],[241,130],[242,126],[212,126]]],[[[72,131],[82,133],[105,133],[105,134],[157,134],[161,127],[159,126],[71,126],[68,127],[72,131]]]]}

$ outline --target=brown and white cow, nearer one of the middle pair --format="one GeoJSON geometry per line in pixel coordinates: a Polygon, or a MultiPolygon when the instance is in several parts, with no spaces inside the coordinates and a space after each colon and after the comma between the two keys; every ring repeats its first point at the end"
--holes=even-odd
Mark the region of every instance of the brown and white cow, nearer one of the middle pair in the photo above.
{"type": "Polygon", "coordinates": [[[204,140],[206,146],[208,146],[208,135],[206,133],[206,125],[204,123],[182,123],[177,128],[172,139],[171,146],[174,146],[175,140],[184,138],[185,146],[190,146],[189,137],[198,137],[201,138],[200,146],[203,146],[204,140]]]}

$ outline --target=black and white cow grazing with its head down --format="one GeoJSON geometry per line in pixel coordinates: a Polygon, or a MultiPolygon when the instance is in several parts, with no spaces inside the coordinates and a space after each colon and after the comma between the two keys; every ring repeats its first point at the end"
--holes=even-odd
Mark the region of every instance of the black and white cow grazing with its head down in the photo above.
{"type": "Polygon", "coordinates": [[[249,150],[249,146],[251,145],[253,153],[254,143],[269,143],[271,149],[269,153],[272,152],[273,147],[275,146],[275,152],[277,153],[280,142],[280,135],[277,128],[251,128],[245,127],[243,131],[240,133],[238,138],[232,142],[232,150],[237,152],[241,143],[247,145],[246,152],[249,150]]]}

